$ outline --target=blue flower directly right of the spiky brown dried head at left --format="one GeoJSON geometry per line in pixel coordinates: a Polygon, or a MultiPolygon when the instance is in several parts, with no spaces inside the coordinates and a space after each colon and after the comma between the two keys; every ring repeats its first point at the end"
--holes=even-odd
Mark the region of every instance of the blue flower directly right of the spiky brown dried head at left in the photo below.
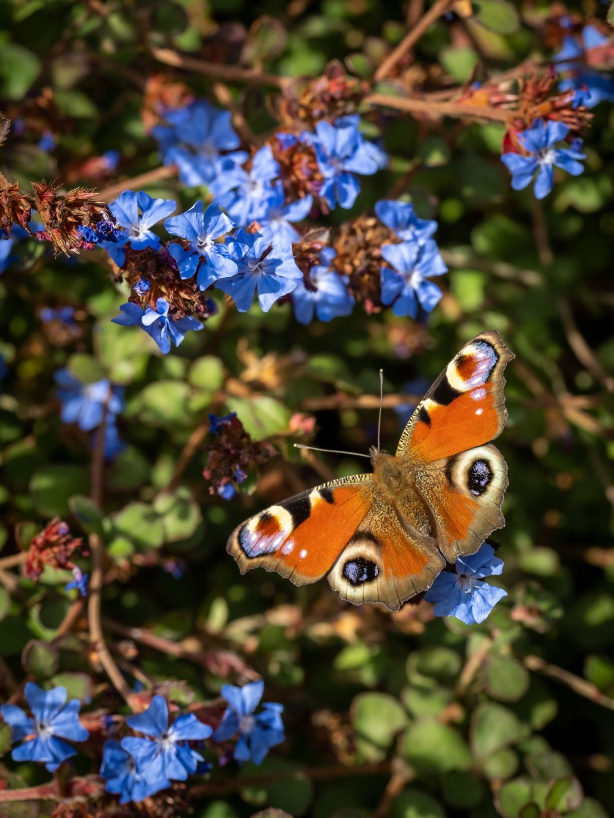
{"type": "Polygon", "coordinates": [[[124,263],[124,246],[129,242],[135,250],[146,247],[158,249],[160,238],[150,230],[160,219],[169,216],[177,207],[172,199],[152,199],[144,191],[124,191],[111,202],[109,208],[120,225],[120,240],[116,242],[102,241],[100,244],[111,256],[118,267],[124,263]]]}

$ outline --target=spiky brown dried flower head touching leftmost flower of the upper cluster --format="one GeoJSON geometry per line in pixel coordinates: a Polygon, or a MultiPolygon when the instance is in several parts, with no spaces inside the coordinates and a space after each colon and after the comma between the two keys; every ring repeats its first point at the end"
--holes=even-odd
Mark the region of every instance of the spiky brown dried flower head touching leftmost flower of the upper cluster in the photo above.
{"type": "Polygon", "coordinates": [[[93,191],[75,187],[62,195],[47,182],[33,182],[32,187],[34,206],[45,228],[37,237],[51,241],[56,254],[93,249],[95,245],[84,240],[79,227],[93,227],[102,221],[115,224],[108,206],[98,201],[93,191]]]}

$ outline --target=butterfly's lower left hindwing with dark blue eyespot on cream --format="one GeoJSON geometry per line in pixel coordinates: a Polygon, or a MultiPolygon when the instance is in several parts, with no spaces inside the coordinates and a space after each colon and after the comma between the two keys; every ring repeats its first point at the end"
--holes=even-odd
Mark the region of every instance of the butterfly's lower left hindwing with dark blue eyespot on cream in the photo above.
{"type": "Polygon", "coordinates": [[[375,497],[328,574],[328,582],[354,605],[381,602],[395,611],[431,587],[444,565],[431,537],[410,533],[395,506],[375,497]]]}

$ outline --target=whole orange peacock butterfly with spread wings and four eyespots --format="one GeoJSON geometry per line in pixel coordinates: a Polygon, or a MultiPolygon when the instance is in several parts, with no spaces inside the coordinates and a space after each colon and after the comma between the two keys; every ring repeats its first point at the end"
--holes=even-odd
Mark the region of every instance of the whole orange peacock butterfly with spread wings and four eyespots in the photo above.
{"type": "Polygon", "coordinates": [[[228,539],[242,573],[262,567],[303,585],[327,575],[356,605],[391,610],[426,591],[504,524],[503,368],[496,332],[465,344],[414,411],[396,454],[372,448],[372,474],[333,480],[248,519],[228,539]]]}

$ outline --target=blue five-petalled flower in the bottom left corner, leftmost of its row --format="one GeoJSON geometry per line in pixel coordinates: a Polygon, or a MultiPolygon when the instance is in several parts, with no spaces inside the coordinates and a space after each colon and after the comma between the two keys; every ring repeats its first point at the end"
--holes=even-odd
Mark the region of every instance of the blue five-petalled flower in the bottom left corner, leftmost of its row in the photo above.
{"type": "Polygon", "coordinates": [[[66,702],[65,687],[41,690],[33,681],[25,685],[25,698],[32,718],[16,706],[2,704],[2,718],[11,726],[14,741],[23,741],[13,749],[16,762],[43,762],[49,772],[55,772],[66,758],[76,751],[62,739],[85,741],[88,730],[79,721],[79,699],[66,702]]]}

